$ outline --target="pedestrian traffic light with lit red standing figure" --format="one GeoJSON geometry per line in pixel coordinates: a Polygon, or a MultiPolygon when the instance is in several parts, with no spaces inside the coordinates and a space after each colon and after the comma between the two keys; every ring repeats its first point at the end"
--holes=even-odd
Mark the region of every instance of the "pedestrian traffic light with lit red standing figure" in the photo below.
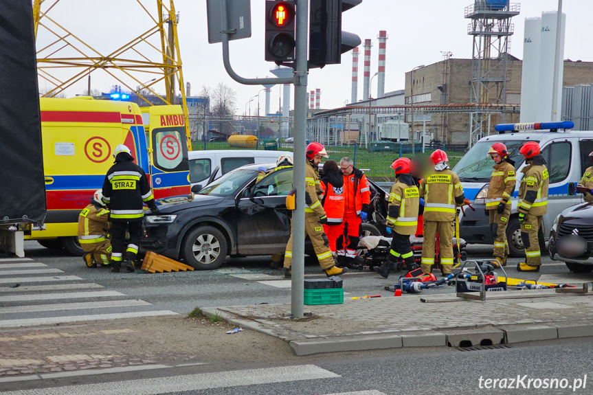
{"type": "Polygon", "coordinates": [[[265,60],[295,60],[295,3],[293,0],[266,0],[265,60]]]}

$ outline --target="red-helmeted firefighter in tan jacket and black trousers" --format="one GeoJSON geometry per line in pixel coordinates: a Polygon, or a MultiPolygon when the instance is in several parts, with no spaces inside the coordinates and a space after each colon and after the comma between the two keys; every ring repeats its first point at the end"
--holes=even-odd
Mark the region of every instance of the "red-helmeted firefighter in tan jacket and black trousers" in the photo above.
{"type": "Polygon", "coordinates": [[[418,269],[410,245],[410,235],[416,233],[418,225],[420,194],[410,174],[410,159],[396,159],[391,167],[395,171],[395,183],[389,192],[388,214],[385,219],[385,225],[392,229],[388,231],[392,235],[391,249],[387,261],[376,269],[383,278],[388,278],[389,272],[401,260],[405,264],[405,270],[418,269]]]}

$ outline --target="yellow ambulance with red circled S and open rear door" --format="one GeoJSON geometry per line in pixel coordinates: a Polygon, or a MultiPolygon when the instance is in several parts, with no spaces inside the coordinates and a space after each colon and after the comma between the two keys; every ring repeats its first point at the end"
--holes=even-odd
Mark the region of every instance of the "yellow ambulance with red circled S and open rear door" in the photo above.
{"type": "Polygon", "coordinates": [[[82,255],[78,214],[103,185],[118,144],[130,148],[155,199],[190,194],[186,119],[181,106],[93,98],[41,98],[47,216],[28,240],[82,255]]]}

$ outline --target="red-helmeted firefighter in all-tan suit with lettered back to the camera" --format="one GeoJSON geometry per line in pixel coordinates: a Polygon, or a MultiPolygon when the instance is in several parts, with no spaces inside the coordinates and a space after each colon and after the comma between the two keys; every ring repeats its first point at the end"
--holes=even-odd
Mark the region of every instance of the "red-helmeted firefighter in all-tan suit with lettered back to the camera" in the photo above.
{"type": "Polygon", "coordinates": [[[463,188],[457,174],[449,170],[449,159],[443,150],[430,155],[434,170],[427,172],[420,184],[420,196],[424,198],[424,242],[421,267],[429,273],[434,264],[436,234],[440,242],[440,264],[443,275],[453,267],[453,235],[456,207],[465,201],[463,188]]]}

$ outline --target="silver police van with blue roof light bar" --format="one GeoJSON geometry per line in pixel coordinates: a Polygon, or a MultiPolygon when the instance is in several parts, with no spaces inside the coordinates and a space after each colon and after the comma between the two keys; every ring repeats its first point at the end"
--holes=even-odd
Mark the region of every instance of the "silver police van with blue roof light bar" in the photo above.
{"type": "Polygon", "coordinates": [[[471,147],[453,169],[459,176],[465,197],[473,201],[475,207],[475,211],[465,210],[460,218],[461,237],[469,243],[493,243],[484,207],[494,166],[488,150],[492,144],[500,142],[506,146],[508,156],[515,161],[517,169],[517,187],[511,197],[513,209],[506,228],[508,247],[511,256],[524,255],[517,196],[525,163],[519,148],[526,142],[537,142],[550,174],[548,214],[544,216],[544,239],[548,240],[547,235],[558,214],[566,207],[581,203],[582,195],[576,187],[583,172],[590,166],[588,155],[593,151],[593,131],[572,131],[573,127],[573,122],[499,124],[495,126],[499,134],[484,137],[471,147]]]}

